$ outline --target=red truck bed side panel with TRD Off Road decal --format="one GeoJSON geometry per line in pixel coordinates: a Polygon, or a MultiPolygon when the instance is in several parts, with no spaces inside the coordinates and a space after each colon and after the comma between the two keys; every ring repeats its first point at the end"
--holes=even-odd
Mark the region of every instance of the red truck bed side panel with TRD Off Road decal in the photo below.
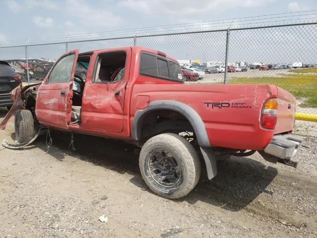
{"type": "Polygon", "coordinates": [[[263,150],[274,130],[261,128],[264,101],[276,96],[274,85],[181,84],[139,76],[131,97],[132,123],[138,95],[175,100],[191,106],[205,123],[210,144],[217,147],[263,150]],[[161,83],[161,84],[160,84],[161,83]],[[213,103],[219,103],[213,104],[213,103]]]}

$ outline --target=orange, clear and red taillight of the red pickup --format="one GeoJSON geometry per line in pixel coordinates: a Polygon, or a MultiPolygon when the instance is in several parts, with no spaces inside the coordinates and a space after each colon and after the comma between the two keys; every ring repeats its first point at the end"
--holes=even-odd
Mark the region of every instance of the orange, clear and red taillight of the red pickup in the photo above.
{"type": "Polygon", "coordinates": [[[265,129],[275,129],[277,122],[277,99],[268,99],[263,107],[261,125],[265,129]]]}

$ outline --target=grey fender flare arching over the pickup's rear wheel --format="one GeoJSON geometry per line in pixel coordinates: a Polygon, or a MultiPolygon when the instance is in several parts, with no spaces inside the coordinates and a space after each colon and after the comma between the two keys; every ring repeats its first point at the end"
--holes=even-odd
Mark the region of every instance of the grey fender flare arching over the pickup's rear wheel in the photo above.
{"type": "Polygon", "coordinates": [[[134,140],[138,141],[141,138],[141,125],[145,116],[156,110],[172,110],[183,115],[192,125],[198,144],[201,147],[211,147],[205,124],[199,114],[192,107],[172,100],[154,101],[146,109],[136,112],[131,127],[131,135],[134,140]]]}

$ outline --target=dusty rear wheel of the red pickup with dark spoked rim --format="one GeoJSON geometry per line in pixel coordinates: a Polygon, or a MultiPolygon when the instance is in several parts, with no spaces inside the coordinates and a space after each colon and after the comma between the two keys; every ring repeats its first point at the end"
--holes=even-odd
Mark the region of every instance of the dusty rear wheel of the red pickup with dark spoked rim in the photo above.
{"type": "Polygon", "coordinates": [[[150,138],[141,149],[139,166],[142,178],[149,188],[160,196],[171,199],[187,195],[196,186],[201,174],[201,163],[194,147],[184,137],[173,133],[150,138]],[[171,160],[172,163],[169,163],[171,160]],[[159,169],[154,170],[153,167],[159,167],[160,173],[159,169]],[[164,175],[169,173],[169,177],[162,176],[162,171],[164,175]]]}

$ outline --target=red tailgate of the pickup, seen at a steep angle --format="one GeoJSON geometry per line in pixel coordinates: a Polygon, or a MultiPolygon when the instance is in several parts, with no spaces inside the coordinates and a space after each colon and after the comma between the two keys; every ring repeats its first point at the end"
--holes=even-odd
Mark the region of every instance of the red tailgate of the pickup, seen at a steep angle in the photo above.
{"type": "Polygon", "coordinates": [[[275,134],[292,131],[295,121],[295,97],[277,87],[277,124],[275,134]]]}

